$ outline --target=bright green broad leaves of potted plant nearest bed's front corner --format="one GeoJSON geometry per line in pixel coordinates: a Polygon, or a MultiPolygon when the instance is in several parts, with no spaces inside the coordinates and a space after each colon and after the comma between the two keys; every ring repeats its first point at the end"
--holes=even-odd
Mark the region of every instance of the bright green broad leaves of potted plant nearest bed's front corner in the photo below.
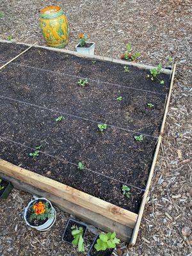
{"type": "Polygon", "coordinates": [[[120,239],[116,238],[116,233],[108,232],[108,234],[100,234],[97,243],[94,248],[97,252],[105,251],[107,249],[112,249],[116,247],[116,244],[120,243],[120,239]]]}

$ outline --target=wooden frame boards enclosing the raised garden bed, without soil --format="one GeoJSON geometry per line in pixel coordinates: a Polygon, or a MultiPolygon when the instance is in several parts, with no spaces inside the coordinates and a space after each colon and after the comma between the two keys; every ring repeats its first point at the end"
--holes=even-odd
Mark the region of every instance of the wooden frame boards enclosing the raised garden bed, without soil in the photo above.
{"type": "MultiPolygon", "coordinates": [[[[10,41],[0,40],[3,43],[10,43],[10,41]]],[[[12,42],[11,42],[12,43],[12,42]]],[[[22,44],[22,43],[15,43],[22,44]]],[[[141,63],[129,63],[123,60],[115,60],[113,58],[106,58],[100,56],[90,56],[79,54],[74,51],[68,51],[64,49],[55,49],[51,47],[45,47],[41,45],[30,45],[30,44],[22,44],[28,46],[28,49],[21,52],[17,56],[15,56],[12,60],[5,63],[0,67],[4,68],[6,65],[11,63],[13,60],[17,59],[24,52],[31,49],[31,47],[40,47],[44,49],[49,49],[51,51],[65,52],[68,54],[73,54],[76,56],[81,56],[83,58],[93,58],[95,60],[103,60],[103,61],[112,61],[115,63],[120,63],[124,65],[132,65],[138,68],[150,69],[153,68],[150,65],[145,65],[141,63]]],[[[144,207],[147,201],[148,191],[150,189],[150,183],[154,173],[154,167],[157,161],[157,155],[159,152],[159,147],[161,145],[164,124],[166,121],[166,115],[168,113],[168,105],[170,103],[170,97],[172,93],[173,79],[175,75],[176,64],[173,65],[172,70],[168,70],[163,68],[161,70],[164,74],[170,74],[170,90],[168,93],[168,97],[166,98],[166,104],[164,107],[164,116],[163,122],[161,125],[161,131],[159,133],[159,138],[157,140],[156,151],[154,154],[154,158],[152,161],[152,166],[150,168],[150,173],[148,175],[147,186],[145,189],[145,193],[143,194],[143,198],[140,205],[140,211],[138,214],[127,211],[121,207],[110,204],[104,200],[96,198],[92,195],[88,195],[82,191],[71,188],[70,186],[66,186],[65,184],[61,184],[56,180],[49,179],[37,173],[31,172],[19,166],[15,166],[8,161],[4,161],[0,159],[0,176],[3,179],[10,180],[13,186],[17,189],[21,189],[32,195],[45,196],[47,199],[51,200],[53,204],[57,205],[61,210],[72,213],[76,215],[78,218],[94,225],[95,227],[99,227],[102,230],[106,231],[116,231],[116,234],[120,239],[129,243],[129,246],[134,246],[136,243],[136,238],[138,236],[138,230],[140,228],[141,218],[143,216],[144,207]]]]}

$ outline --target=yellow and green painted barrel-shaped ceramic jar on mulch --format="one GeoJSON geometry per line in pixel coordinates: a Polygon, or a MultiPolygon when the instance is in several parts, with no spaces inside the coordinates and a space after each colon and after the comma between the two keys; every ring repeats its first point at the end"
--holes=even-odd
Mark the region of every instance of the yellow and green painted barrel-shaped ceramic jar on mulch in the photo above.
{"type": "Polygon", "coordinates": [[[40,27],[47,45],[63,48],[68,44],[68,22],[60,6],[40,10],[40,27]]]}

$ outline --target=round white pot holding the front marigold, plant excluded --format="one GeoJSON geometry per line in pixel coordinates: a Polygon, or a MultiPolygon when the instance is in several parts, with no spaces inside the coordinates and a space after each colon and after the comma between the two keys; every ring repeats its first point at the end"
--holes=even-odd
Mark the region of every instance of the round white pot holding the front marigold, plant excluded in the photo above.
{"type": "Polygon", "coordinates": [[[24,220],[26,221],[26,224],[31,227],[31,228],[35,228],[36,230],[40,230],[40,231],[45,231],[45,230],[48,230],[49,228],[52,227],[52,225],[55,223],[56,221],[56,211],[54,209],[54,207],[52,206],[51,202],[49,200],[47,200],[46,198],[44,197],[41,197],[41,198],[36,198],[35,200],[32,200],[31,202],[29,202],[28,206],[25,208],[24,210],[24,220]],[[40,226],[33,226],[31,225],[27,219],[26,219],[26,216],[27,216],[27,212],[28,212],[28,209],[29,207],[31,206],[31,204],[33,204],[33,202],[35,202],[36,200],[45,200],[47,202],[49,202],[49,204],[51,205],[51,209],[53,210],[54,212],[54,218],[51,218],[49,220],[47,220],[43,225],[40,225],[40,226]]]}

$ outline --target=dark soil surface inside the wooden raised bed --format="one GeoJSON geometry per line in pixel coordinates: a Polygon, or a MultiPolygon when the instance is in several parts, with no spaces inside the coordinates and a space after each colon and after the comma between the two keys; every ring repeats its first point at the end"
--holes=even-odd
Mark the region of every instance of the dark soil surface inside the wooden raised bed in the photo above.
{"type": "MultiPolygon", "coordinates": [[[[19,48],[1,45],[4,52],[19,48]]],[[[90,59],[44,49],[17,58],[1,72],[1,158],[42,175],[51,172],[51,179],[138,213],[170,76],[161,74],[162,85],[150,81],[146,70],[129,69],[124,74],[120,64],[92,65],[90,59]],[[56,64],[49,65],[50,59],[56,64]],[[82,88],[77,79],[84,75],[89,82],[82,88]],[[156,107],[148,108],[148,100],[156,107]],[[109,125],[105,132],[99,132],[100,122],[109,125]],[[136,141],[140,133],[143,141],[136,141]],[[40,156],[30,157],[38,145],[40,156]],[[83,171],[77,170],[80,160],[83,171]],[[123,184],[131,196],[122,195],[123,184]]]]}

